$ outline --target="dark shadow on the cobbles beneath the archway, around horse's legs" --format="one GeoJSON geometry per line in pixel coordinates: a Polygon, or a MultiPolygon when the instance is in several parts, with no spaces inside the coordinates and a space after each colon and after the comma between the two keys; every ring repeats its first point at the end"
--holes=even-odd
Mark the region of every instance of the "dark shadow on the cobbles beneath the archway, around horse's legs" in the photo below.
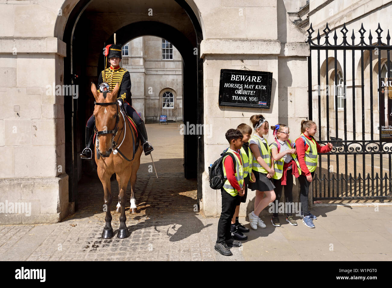
{"type": "MultiPolygon", "coordinates": [[[[183,159],[160,159],[154,163],[158,178],[151,163],[141,164],[138,170],[135,191],[138,210],[136,214],[129,214],[131,184],[128,183],[125,215],[129,232],[134,233],[142,228],[154,227],[156,231],[166,234],[170,241],[180,241],[212,225],[204,225],[197,217],[199,215],[197,180],[185,179],[183,173],[170,173],[173,167],[180,170],[178,165],[181,165],[182,169],[183,159]]],[[[120,214],[114,212],[118,202],[118,182],[113,178],[111,181],[113,202],[110,209],[113,216],[114,237],[116,237],[120,214]]],[[[98,176],[96,173],[95,176],[85,176],[78,183],[79,210],[62,222],[87,222],[94,218],[102,223],[103,229],[105,225],[103,204],[103,187],[98,176]]]]}

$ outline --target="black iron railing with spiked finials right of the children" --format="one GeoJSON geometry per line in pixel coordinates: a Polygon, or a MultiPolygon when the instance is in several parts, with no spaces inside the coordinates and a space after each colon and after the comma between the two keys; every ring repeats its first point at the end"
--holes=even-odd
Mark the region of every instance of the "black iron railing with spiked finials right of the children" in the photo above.
{"type": "Polygon", "coordinates": [[[343,27],[340,29],[339,37],[336,29],[334,29],[332,43],[330,43],[329,34],[331,29],[328,27],[328,24],[326,24],[323,30],[323,43],[321,43],[320,31],[318,31],[317,36],[312,36],[314,33],[312,24],[310,24],[307,32],[309,33],[307,43],[309,43],[310,47],[310,56],[308,57],[309,120],[316,120],[313,119],[313,110],[318,111],[317,116],[315,115],[319,130],[318,138],[316,137],[316,139],[318,139],[321,145],[328,142],[334,144],[332,153],[321,154],[319,156],[318,168],[316,169],[312,183],[314,199],[379,199],[380,201],[392,199],[392,143],[382,142],[379,138],[379,133],[376,133],[378,130],[374,128],[374,124],[378,125],[378,127],[380,127],[380,123],[381,125],[385,125],[385,115],[383,113],[385,110],[385,101],[384,96],[379,93],[378,87],[381,87],[381,78],[383,78],[381,77],[381,65],[385,61],[387,75],[384,77],[389,78],[391,74],[390,50],[392,46],[390,46],[389,30],[386,37],[387,41],[384,43],[382,42],[381,36],[383,30],[378,24],[375,31],[377,34],[376,42],[373,42],[370,31],[367,42],[367,40],[365,41],[366,30],[361,25],[358,31],[360,36],[357,44],[355,43],[357,39],[354,30],[352,30],[350,37],[351,43],[349,43],[346,24],[343,24],[343,27]],[[338,51],[341,51],[339,52],[339,56],[338,51]],[[312,54],[314,52],[317,54],[318,86],[317,91],[315,91],[317,93],[315,93],[317,95],[316,103],[313,105],[312,54]],[[328,56],[328,53],[331,53],[330,56],[328,56]],[[359,60],[356,60],[356,54],[359,53],[359,60]],[[364,53],[366,53],[366,59],[364,58],[364,53]],[[347,54],[349,57],[347,57],[347,54]],[[333,69],[328,69],[328,62],[332,62],[332,60],[329,61],[331,56],[333,57],[334,67],[333,69]],[[351,67],[348,66],[351,68],[351,79],[349,80],[347,79],[347,60],[351,62],[351,67]],[[323,65],[320,65],[320,61],[323,61],[323,65]],[[340,93],[344,93],[342,111],[338,109],[339,93],[336,85],[338,83],[339,72],[338,62],[340,73],[343,74],[343,90],[340,91],[340,93]],[[374,64],[374,62],[377,63],[374,64]],[[364,73],[366,68],[364,67],[365,64],[369,68],[368,77],[366,78],[364,73]],[[321,69],[323,70],[321,71],[321,69]],[[325,72],[325,76],[321,77],[321,72],[325,72]],[[373,87],[373,73],[375,72],[377,72],[376,76],[378,79],[377,89],[373,87]],[[357,76],[359,74],[360,76],[357,76]],[[334,77],[333,89],[328,89],[330,86],[330,75],[334,77]],[[352,92],[352,102],[350,103],[347,100],[347,81],[352,86],[350,89],[352,92]],[[366,85],[365,82],[367,83],[366,85]],[[326,89],[323,89],[323,94],[321,94],[321,85],[325,85],[326,87],[326,89]],[[365,88],[367,89],[366,91],[365,88]],[[378,96],[379,99],[379,112],[374,111],[373,108],[373,94],[375,90],[377,90],[376,97],[378,96]],[[330,95],[332,91],[334,93],[330,95]],[[334,97],[335,108],[329,107],[330,96],[334,97]],[[325,111],[323,115],[322,110],[325,111]],[[331,113],[330,110],[332,110],[331,113]],[[350,112],[352,115],[349,115],[350,112]],[[357,131],[358,127],[356,127],[356,121],[359,120],[356,119],[357,113],[361,113],[362,116],[361,130],[359,132],[357,131]],[[379,114],[379,119],[374,123],[374,114],[377,113],[379,114]],[[343,117],[341,114],[343,114],[343,117]],[[347,124],[348,117],[352,120],[352,125],[349,126],[347,124]],[[325,125],[321,126],[322,123],[325,123],[325,125]],[[370,129],[367,129],[369,125],[370,129]],[[323,131],[325,133],[322,133],[323,131]],[[387,163],[385,164],[384,161],[387,161],[387,163]],[[341,172],[342,169],[344,169],[344,174],[341,172]],[[366,175],[365,178],[364,175],[366,175]]]}

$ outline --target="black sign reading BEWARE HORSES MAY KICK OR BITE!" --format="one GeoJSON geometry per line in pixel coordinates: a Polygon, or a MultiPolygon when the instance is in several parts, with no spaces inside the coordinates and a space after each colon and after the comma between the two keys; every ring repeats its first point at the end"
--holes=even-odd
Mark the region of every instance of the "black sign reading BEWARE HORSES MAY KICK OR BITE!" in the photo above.
{"type": "MultiPolygon", "coordinates": [[[[245,83],[254,83],[253,81],[251,82],[240,82],[236,81],[238,84],[243,84],[245,83]]],[[[238,89],[238,88],[237,88],[238,89]]],[[[248,91],[248,90],[247,90],[248,91]]],[[[264,71],[252,71],[252,70],[236,70],[236,69],[221,69],[220,72],[220,83],[219,83],[219,105],[220,106],[229,106],[229,107],[246,107],[246,108],[258,108],[258,109],[270,109],[271,106],[271,91],[272,91],[272,72],[264,72],[264,71]],[[265,102],[265,104],[248,104],[244,102],[240,102],[239,100],[233,100],[233,101],[227,101],[227,95],[232,95],[233,92],[236,88],[232,87],[224,87],[225,83],[228,83],[230,81],[227,81],[227,76],[230,76],[232,74],[236,75],[245,75],[245,76],[256,76],[256,77],[263,77],[267,78],[264,80],[262,83],[267,86],[266,87],[266,92],[263,95],[262,89],[252,89],[257,93],[257,95],[253,95],[258,97],[259,103],[265,102]]],[[[238,95],[237,95],[238,96],[238,95]]]]}

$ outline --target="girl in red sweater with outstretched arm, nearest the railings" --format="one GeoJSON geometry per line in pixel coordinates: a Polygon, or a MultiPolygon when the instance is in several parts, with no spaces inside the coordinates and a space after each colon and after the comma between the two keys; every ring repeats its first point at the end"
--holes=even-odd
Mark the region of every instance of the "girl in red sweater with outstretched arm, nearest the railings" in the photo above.
{"type": "Polygon", "coordinates": [[[309,228],[314,228],[312,220],[317,219],[308,210],[308,194],[309,185],[312,182],[314,171],[317,167],[318,153],[326,153],[332,150],[333,145],[321,147],[314,134],[317,132],[317,125],[311,120],[301,121],[301,135],[296,139],[296,150],[298,155],[299,165],[301,165],[301,176],[298,177],[299,184],[301,185],[301,217],[303,217],[303,224],[309,228]]]}

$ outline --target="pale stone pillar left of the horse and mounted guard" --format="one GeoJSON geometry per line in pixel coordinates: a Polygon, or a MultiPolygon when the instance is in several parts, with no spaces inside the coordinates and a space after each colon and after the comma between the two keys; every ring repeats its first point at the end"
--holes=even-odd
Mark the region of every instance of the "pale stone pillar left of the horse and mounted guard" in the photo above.
{"type": "Polygon", "coordinates": [[[65,174],[64,97],[72,97],[72,87],[62,85],[65,51],[54,37],[0,41],[2,225],[57,222],[73,213],[65,174]]]}

